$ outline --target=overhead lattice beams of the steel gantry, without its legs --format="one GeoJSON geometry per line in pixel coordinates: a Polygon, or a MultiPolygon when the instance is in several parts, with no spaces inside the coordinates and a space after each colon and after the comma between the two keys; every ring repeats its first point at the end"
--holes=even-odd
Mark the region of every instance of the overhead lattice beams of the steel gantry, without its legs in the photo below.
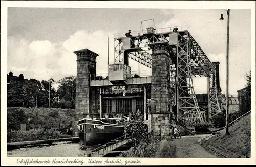
{"type": "MultiPolygon", "coordinates": [[[[166,29],[167,30],[167,29],[166,29]]],[[[151,68],[152,57],[150,47],[148,44],[154,42],[169,42],[169,34],[177,33],[172,32],[172,28],[169,28],[167,32],[161,32],[156,34],[136,34],[132,37],[117,37],[115,40],[115,62],[121,62],[123,60],[124,53],[127,52],[129,58],[151,68]]],[[[179,34],[183,41],[185,38],[189,40],[190,55],[191,55],[191,67],[193,75],[203,75],[202,71],[207,75],[214,73],[215,66],[208,59],[203,52],[197,41],[191,36],[188,31],[179,31],[179,34]],[[186,33],[186,35],[184,35],[186,33]]],[[[181,41],[182,43],[182,41],[181,41]]]]}

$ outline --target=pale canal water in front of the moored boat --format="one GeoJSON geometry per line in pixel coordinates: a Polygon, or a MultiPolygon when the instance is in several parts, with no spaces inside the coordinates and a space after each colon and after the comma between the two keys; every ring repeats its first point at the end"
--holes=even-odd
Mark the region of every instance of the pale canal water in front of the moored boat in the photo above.
{"type": "Polygon", "coordinates": [[[56,142],[51,146],[39,146],[8,150],[9,157],[86,157],[87,152],[97,146],[87,146],[85,149],[80,143],[56,142]]]}

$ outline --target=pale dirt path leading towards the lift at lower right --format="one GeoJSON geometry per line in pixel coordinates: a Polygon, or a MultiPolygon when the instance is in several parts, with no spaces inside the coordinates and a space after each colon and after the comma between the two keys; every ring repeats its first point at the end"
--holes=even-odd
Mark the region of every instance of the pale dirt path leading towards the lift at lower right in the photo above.
{"type": "Polygon", "coordinates": [[[176,145],[177,158],[216,158],[200,146],[198,140],[202,136],[184,136],[173,140],[176,145]]]}

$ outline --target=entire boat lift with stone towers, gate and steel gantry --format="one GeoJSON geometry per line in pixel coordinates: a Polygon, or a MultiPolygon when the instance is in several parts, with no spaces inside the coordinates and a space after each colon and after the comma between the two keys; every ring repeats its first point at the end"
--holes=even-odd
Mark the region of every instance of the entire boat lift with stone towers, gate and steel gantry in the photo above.
{"type": "Polygon", "coordinates": [[[151,27],[114,35],[114,64],[108,76],[96,73],[97,53],[77,56],[76,118],[123,117],[140,110],[148,130],[168,135],[170,126],[214,124],[220,109],[219,62],[211,62],[185,27],[151,27]],[[151,76],[132,76],[129,58],[152,69],[151,76]],[[208,77],[207,110],[198,103],[193,78],[208,77]],[[175,121],[174,121],[175,120],[175,121]]]}

